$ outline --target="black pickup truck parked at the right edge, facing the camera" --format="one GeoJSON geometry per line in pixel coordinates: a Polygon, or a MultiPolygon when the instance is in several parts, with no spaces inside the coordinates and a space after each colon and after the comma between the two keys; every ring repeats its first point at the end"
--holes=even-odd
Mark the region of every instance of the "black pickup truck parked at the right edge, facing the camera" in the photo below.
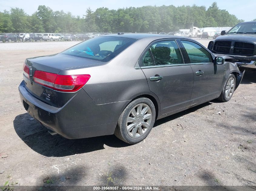
{"type": "Polygon", "coordinates": [[[256,21],[242,22],[208,44],[214,54],[224,54],[237,60],[238,66],[256,68],[256,21]]]}

